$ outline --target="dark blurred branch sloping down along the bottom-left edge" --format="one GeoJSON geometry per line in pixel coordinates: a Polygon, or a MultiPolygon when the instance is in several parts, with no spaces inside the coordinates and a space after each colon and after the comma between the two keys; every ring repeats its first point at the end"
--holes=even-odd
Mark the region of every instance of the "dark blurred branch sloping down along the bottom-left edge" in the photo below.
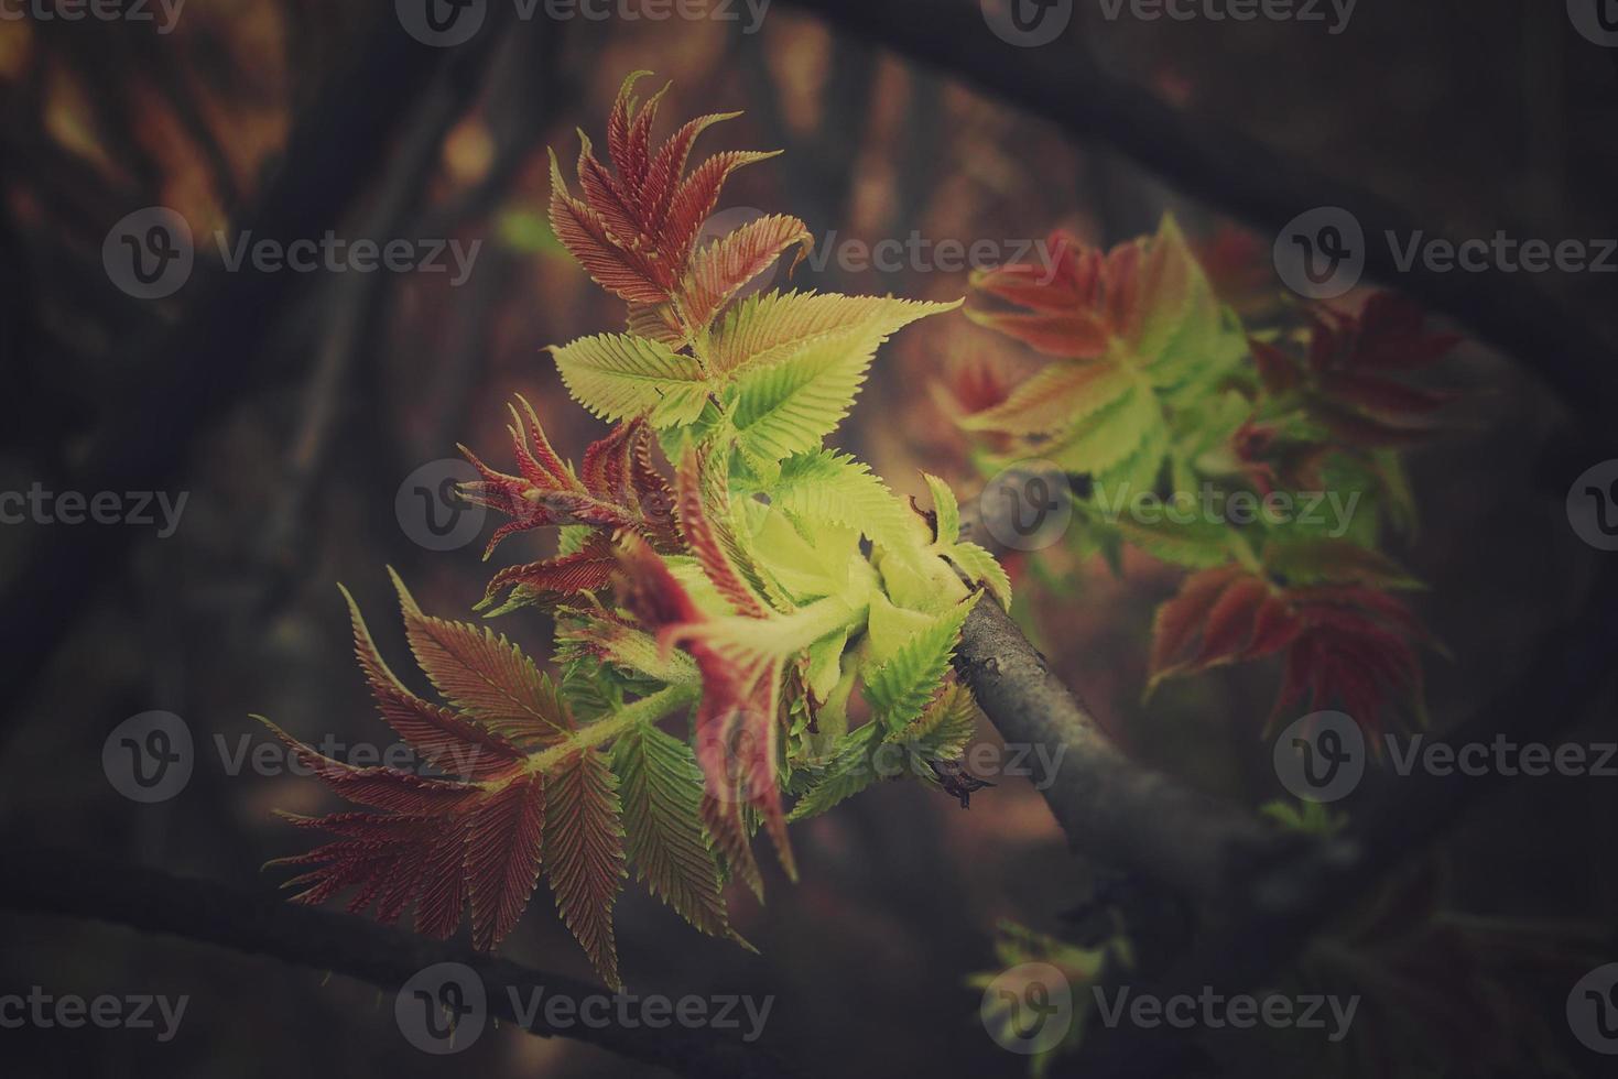
{"type": "MultiPolygon", "coordinates": [[[[19,836],[13,836],[19,840],[19,836]]],[[[555,996],[582,1000],[612,990],[508,959],[414,937],[351,914],[294,906],[273,895],[244,891],[210,880],[172,877],[68,851],[5,844],[29,869],[0,893],[0,908],[47,916],[95,919],[113,925],[172,933],[244,954],[335,971],[392,990],[437,963],[461,963],[484,982],[489,1014],[539,1037],[589,1042],[629,1060],[701,1079],[773,1079],[796,1074],[772,1053],[730,1040],[709,1027],[644,1024],[573,1024],[553,1027],[545,1009],[532,1009],[524,1026],[518,1005],[544,988],[555,996]]],[[[526,1011],[526,1008],[524,1008],[526,1011]]]]}

